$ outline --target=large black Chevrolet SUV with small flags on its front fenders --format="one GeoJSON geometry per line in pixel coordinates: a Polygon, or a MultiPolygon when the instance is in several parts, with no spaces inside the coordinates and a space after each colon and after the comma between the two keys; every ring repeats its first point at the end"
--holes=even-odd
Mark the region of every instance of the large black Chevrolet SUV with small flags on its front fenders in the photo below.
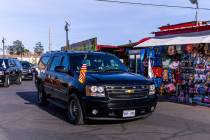
{"type": "Polygon", "coordinates": [[[38,65],[38,104],[51,102],[66,109],[73,124],[83,124],[88,119],[144,118],[156,108],[153,82],[129,72],[111,54],[49,52],[38,65]]]}

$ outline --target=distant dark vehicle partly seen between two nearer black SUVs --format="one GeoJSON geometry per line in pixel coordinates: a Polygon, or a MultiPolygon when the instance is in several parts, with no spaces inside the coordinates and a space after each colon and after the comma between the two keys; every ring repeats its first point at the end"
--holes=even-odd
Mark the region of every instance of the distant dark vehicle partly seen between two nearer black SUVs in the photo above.
{"type": "Polygon", "coordinates": [[[32,64],[28,61],[20,61],[23,67],[22,79],[33,80],[32,64]]]}

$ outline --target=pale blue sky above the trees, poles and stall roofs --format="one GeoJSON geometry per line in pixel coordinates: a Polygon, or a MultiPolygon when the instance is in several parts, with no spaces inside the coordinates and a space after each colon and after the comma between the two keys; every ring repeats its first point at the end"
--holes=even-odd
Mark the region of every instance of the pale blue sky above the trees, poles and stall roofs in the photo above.
{"type": "MultiPolygon", "coordinates": [[[[121,0],[130,2],[194,6],[189,0],[121,0]]],[[[166,24],[195,19],[189,9],[113,4],[95,0],[0,0],[0,39],[5,45],[21,40],[33,51],[42,42],[48,51],[49,29],[52,49],[65,45],[65,20],[70,22],[70,43],[97,37],[98,44],[121,45],[153,36],[166,24]]],[[[209,7],[210,0],[199,0],[209,7]]],[[[210,20],[210,11],[199,10],[199,20],[210,20]]],[[[2,46],[2,44],[0,45],[2,46]]]]}

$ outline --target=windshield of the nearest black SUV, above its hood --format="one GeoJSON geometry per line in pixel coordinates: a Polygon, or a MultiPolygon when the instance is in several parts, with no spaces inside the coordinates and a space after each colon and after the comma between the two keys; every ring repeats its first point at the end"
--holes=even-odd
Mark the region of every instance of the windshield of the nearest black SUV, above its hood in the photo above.
{"type": "Polygon", "coordinates": [[[115,56],[108,54],[76,54],[70,56],[71,70],[79,71],[82,64],[88,72],[127,71],[127,68],[115,56]]]}

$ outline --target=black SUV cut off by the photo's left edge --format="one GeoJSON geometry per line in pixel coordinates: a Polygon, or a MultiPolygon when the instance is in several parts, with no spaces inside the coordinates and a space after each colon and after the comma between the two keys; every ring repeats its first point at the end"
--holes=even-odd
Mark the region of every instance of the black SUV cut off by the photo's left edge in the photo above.
{"type": "Polygon", "coordinates": [[[22,82],[22,65],[14,58],[0,58],[0,84],[9,87],[14,82],[22,82]]]}

